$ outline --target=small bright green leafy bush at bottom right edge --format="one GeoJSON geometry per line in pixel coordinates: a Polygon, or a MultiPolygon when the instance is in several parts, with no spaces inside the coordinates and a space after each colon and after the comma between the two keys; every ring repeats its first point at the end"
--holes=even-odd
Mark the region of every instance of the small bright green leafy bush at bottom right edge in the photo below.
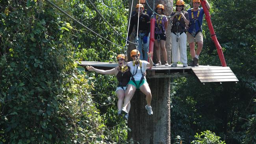
{"type": "Polygon", "coordinates": [[[220,137],[216,136],[211,131],[204,131],[201,134],[195,135],[195,140],[191,144],[226,144],[225,141],[221,141],[220,137]]]}

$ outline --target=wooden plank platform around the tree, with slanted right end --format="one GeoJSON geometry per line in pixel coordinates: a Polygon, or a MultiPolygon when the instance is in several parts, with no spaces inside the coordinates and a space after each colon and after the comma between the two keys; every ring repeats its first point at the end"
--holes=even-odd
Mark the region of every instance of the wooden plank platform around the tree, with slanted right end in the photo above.
{"type": "MultiPolygon", "coordinates": [[[[80,61],[77,62],[78,65],[88,66],[91,65],[95,68],[109,70],[115,68],[117,63],[104,63],[104,62],[94,62],[94,61],[80,61]]],[[[147,71],[147,78],[174,78],[181,76],[197,76],[197,78],[202,82],[225,82],[225,81],[239,81],[232,70],[227,67],[222,66],[195,66],[195,67],[183,67],[178,65],[177,67],[170,66],[152,66],[151,69],[147,71]]]]}

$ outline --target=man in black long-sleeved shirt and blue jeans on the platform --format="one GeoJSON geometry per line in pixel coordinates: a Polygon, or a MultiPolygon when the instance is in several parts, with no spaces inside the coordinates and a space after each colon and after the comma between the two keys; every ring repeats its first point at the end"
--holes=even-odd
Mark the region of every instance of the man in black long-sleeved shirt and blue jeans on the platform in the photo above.
{"type": "Polygon", "coordinates": [[[140,59],[147,61],[148,60],[147,52],[149,49],[148,34],[150,33],[150,18],[147,14],[143,13],[144,6],[142,4],[137,4],[135,8],[136,8],[136,14],[133,15],[130,20],[130,28],[128,30],[128,39],[135,25],[136,36],[138,33],[138,38],[135,37],[135,40],[138,39],[138,50],[141,53],[140,59]],[[139,17],[139,23],[138,23],[138,17],[139,17]],[[137,31],[138,24],[139,24],[139,28],[137,31]],[[142,50],[144,50],[144,55],[142,53],[142,50]]]}

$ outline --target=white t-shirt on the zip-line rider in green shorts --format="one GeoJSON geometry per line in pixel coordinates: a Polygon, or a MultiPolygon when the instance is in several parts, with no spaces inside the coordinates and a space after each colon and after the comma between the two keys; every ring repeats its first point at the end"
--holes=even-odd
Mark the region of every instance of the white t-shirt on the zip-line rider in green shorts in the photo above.
{"type": "MultiPolygon", "coordinates": [[[[134,76],[134,80],[135,81],[140,81],[141,80],[141,77],[142,77],[141,70],[142,70],[143,74],[147,70],[148,62],[147,61],[143,61],[143,60],[140,60],[140,61],[142,62],[141,67],[139,66],[139,64],[133,66],[132,61],[129,61],[127,63],[127,65],[130,67],[130,72],[132,73],[132,75],[134,75],[136,73],[136,70],[137,70],[137,67],[138,67],[137,73],[134,76]]],[[[144,76],[144,79],[146,79],[145,76],[144,76]]]]}

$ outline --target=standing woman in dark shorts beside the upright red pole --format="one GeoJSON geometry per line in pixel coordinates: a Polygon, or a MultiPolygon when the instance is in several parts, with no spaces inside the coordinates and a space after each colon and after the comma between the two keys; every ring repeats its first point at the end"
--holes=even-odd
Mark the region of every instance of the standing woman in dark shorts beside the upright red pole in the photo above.
{"type": "Polygon", "coordinates": [[[168,20],[166,17],[163,17],[163,10],[164,7],[162,4],[158,4],[156,6],[156,13],[158,15],[154,15],[155,18],[155,42],[154,46],[156,48],[156,59],[158,63],[156,64],[157,66],[161,66],[161,59],[160,59],[160,48],[161,52],[163,54],[163,59],[165,61],[165,66],[169,66],[168,61],[167,61],[167,53],[165,49],[165,41],[166,41],[166,35],[165,35],[165,30],[167,30],[168,26],[168,20]],[[161,15],[161,16],[159,16],[161,15]]]}

